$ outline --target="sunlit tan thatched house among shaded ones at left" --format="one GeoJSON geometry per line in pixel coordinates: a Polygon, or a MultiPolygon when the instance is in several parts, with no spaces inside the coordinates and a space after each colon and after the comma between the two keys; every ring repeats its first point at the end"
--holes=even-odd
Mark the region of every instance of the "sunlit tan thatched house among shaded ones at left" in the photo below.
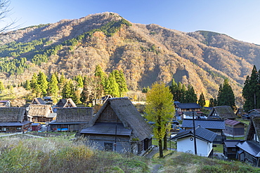
{"type": "Polygon", "coordinates": [[[31,104],[28,116],[32,118],[34,123],[46,123],[51,122],[56,117],[56,113],[53,113],[53,109],[49,104],[31,104]]]}

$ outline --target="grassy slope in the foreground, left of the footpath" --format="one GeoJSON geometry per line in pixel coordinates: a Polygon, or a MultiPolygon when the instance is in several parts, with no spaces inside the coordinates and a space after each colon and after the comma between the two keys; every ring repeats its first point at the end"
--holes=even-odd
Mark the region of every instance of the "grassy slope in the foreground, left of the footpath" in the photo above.
{"type": "Polygon", "coordinates": [[[1,172],[148,172],[148,159],[98,151],[85,140],[37,139],[20,134],[0,141],[1,172]]]}

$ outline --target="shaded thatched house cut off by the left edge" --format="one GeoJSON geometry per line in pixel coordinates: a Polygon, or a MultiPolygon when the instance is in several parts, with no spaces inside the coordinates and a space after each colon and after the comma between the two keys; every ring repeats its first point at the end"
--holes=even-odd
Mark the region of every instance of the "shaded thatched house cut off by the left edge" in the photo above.
{"type": "Polygon", "coordinates": [[[0,107],[0,132],[25,132],[30,124],[25,108],[0,107]]]}

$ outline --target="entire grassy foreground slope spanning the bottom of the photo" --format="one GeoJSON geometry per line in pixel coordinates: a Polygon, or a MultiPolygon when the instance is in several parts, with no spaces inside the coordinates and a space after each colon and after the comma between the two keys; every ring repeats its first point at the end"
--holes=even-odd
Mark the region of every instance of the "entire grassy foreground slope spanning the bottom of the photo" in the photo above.
{"type": "Polygon", "coordinates": [[[241,162],[176,151],[164,151],[171,154],[162,159],[98,151],[84,140],[71,141],[73,137],[1,137],[1,172],[260,172],[241,162]]]}

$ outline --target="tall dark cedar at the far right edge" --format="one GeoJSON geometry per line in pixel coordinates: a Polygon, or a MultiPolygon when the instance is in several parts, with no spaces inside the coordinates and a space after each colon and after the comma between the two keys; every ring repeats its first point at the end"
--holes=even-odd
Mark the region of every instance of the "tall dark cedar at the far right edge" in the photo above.
{"type": "Polygon", "coordinates": [[[254,65],[251,76],[247,76],[242,96],[245,99],[244,110],[250,111],[252,109],[260,108],[260,70],[256,70],[254,65]]]}

